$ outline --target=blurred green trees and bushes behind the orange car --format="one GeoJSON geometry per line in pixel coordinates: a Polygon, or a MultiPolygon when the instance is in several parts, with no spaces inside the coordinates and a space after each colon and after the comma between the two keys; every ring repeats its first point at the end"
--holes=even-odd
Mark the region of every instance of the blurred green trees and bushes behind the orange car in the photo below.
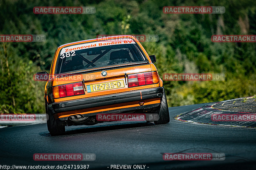
{"type": "Polygon", "coordinates": [[[143,42],[164,73],[224,73],[225,81],[164,81],[169,106],[256,94],[255,43],[213,43],[214,34],[256,34],[254,0],[0,0],[0,34],[44,34],[46,41],[0,43],[0,113],[44,113],[45,82],[55,49],[98,34],[156,34],[143,42]],[[95,14],[34,14],[35,6],[95,6],[95,14]],[[164,6],[224,6],[224,14],[164,14],[164,6]]]}

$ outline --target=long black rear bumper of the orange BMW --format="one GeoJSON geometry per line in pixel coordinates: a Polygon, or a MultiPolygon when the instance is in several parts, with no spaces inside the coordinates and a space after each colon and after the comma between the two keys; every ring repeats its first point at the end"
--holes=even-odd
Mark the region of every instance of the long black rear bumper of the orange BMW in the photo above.
{"type": "MultiPolygon", "coordinates": [[[[52,104],[49,104],[48,107],[53,114],[56,114],[61,112],[73,111],[73,110],[107,106],[112,104],[128,103],[128,102],[141,101],[141,100],[154,99],[154,98],[162,98],[163,91],[164,91],[163,87],[135,90],[131,92],[111,94],[107,96],[97,96],[97,97],[90,97],[90,98],[72,100],[67,102],[52,103],[52,104]]],[[[157,107],[157,106],[156,104],[153,104],[152,107],[157,107]]],[[[134,109],[125,108],[124,110],[116,110],[116,112],[128,111],[127,109],[137,110],[137,109],[144,109],[144,108],[150,108],[150,106],[148,105],[139,106],[138,108],[134,108],[134,109]]],[[[91,114],[88,114],[88,116],[89,115],[91,114]]]]}

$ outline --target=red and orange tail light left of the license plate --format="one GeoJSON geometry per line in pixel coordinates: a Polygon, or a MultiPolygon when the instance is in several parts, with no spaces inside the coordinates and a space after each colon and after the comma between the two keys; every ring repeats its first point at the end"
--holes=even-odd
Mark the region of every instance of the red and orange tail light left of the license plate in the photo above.
{"type": "Polygon", "coordinates": [[[54,86],[52,91],[53,91],[54,98],[84,94],[84,88],[83,88],[82,82],[54,86]]]}

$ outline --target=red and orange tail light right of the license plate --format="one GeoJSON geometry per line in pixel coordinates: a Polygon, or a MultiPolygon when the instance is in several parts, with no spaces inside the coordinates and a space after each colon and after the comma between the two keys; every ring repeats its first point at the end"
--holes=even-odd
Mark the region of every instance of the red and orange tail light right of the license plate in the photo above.
{"type": "Polygon", "coordinates": [[[158,82],[159,79],[156,71],[128,75],[128,87],[143,86],[158,82]]]}

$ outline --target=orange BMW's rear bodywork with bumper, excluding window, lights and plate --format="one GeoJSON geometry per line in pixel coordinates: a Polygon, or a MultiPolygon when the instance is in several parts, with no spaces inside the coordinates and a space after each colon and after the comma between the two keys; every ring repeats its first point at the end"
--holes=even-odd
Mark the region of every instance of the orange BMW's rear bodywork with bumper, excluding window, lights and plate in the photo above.
{"type": "MultiPolygon", "coordinates": [[[[92,87],[92,86],[90,86],[92,87]]],[[[98,88],[99,89],[99,88],[98,88]]],[[[45,102],[49,106],[49,109],[54,113],[55,119],[67,120],[71,115],[82,114],[93,116],[97,113],[116,113],[122,111],[134,111],[138,109],[150,109],[158,108],[161,103],[161,98],[163,96],[163,81],[160,79],[156,66],[151,62],[148,53],[145,51],[140,42],[133,36],[113,36],[104,37],[99,39],[89,39],[84,41],[78,41],[73,43],[64,44],[55,51],[52,66],[50,69],[49,80],[45,85],[45,102]],[[77,45],[81,43],[96,42],[101,40],[112,40],[117,38],[129,38],[133,39],[136,44],[140,47],[142,52],[148,61],[138,62],[138,63],[127,63],[127,64],[117,64],[111,66],[97,67],[97,68],[87,68],[84,70],[76,70],[64,74],[55,74],[56,64],[58,56],[62,48],[77,45]],[[102,71],[107,72],[107,76],[103,77],[101,75],[102,71]],[[128,87],[128,78],[126,75],[147,73],[155,71],[158,76],[158,82],[154,84],[148,84],[137,87],[128,87]],[[88,92],[86,87],[99,83],[108,83],[114,81],[123,81],[124,86],[117,89],[106,89],[95,92],[88,92]],[[77,96],[66,96],[66,97],[54,97],[53,88],[75,82],[84,82],[84,94],[77,96]],[[160,88],[160,91],[159,91],[160,88]],[[153,91],[152,91],[153,90],[153,91]],[[155,91],[154,91],[155,90],[155,91]],[[158,91],[157,91],[158,90],[158,91]],[[130,95],[128,95],[130,93],[130,95]],[[139,95],[140,93],[140,95],[139,95]],[[131,96],[133,95],[134,96],[131,96]],[[162,94],[162,95],[161,95],[162,94]],[[122,96],[129,97],[122,97],[122,96]],[[119,96],[119,98],[118,98],[119,96]],[[106,97],[115,100],[106,100],[106,97]],[[130,99],[129,99],[130,98],[130,99]],[[88,103],[88,101],[97,101],[99,99],[99,104],[88,103]],[[132,99],[132,100],[131,100],[132,99]],[[81,102],[83,100],[83,102],[81,102]],[[101,101],[100,101],[101,100],[101,101]],[[80,102],[80,103],[79,103],[80,102]],[[86,103],[87,102],[87,103],[86,103]],[[69,103],[69,105],[68,105],[69,103]],[[78,104],[77,104],[78,103],[78,104]],[[143,103],[143,104],[141,104],[143,103]],[[66,107],[65,107],[66,104],[66,107]],[[62,107],[63,106],[63,107],[62,107]],[[59,107],[59,108],[58,108],[59,107]]]]}

